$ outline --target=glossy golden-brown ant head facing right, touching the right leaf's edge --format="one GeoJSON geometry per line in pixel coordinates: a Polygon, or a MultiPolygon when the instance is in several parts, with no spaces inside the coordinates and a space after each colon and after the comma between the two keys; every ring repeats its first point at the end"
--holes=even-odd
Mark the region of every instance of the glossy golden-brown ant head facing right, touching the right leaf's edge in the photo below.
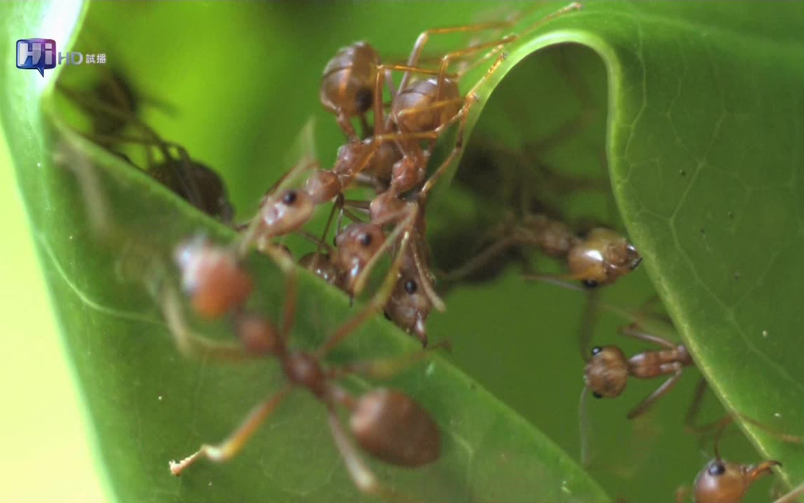
{"type": "Polygon", "coordinates": [[[613,283],[617,278],[636,269],[642,258],[637,249],[609,229],[592,229],[583,241],[569,250],[570,274],[585,287],[613,283]]]}

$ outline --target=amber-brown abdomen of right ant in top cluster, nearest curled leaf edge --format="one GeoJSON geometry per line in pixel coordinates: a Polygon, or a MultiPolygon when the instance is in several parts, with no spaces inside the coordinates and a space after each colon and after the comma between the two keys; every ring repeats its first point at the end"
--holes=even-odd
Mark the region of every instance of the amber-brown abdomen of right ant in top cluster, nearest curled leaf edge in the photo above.
{"type": "Polygon", "coordinates": [[[432,131],[453,118],[462,106],[457,82],[449,78],[417,80],[400,90],[391,104],[391,114],[400,131],[432,131]]]}

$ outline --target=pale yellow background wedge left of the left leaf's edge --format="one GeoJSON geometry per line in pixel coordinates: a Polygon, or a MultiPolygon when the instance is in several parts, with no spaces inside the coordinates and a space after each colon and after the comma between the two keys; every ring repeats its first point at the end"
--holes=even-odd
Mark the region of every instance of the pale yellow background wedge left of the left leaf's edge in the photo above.
{"type": "Polygon", "coordinates": [[[0,438],[2,501],[105,501],[91,457],[70,362],[51,311],[5,140],[0,138],[0,365],[5,406],[0,438]]]}

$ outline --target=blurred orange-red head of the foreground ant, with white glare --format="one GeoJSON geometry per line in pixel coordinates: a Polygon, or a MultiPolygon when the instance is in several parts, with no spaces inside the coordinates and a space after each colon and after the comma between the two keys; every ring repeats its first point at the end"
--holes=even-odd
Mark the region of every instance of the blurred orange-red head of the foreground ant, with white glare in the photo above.
{"type": "Polygon", "coordinates": [[[183,289],[203,317],[215,318],[240,307],[252,291],[252,279],[235,254],[201,237],[179,245],[175,259],[182,269],[183,289]]]}

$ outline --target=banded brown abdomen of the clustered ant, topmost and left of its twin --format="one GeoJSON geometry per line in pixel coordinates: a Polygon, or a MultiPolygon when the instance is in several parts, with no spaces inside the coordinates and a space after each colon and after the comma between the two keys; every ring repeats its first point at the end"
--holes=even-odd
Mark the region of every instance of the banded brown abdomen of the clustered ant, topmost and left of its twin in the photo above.
{"type": "Polygon", "coordinates": [[[342,47],[326,64],[321,102],[332,113],[356,117],[371,109],[379,54],[366,42],[342,47]]]}

